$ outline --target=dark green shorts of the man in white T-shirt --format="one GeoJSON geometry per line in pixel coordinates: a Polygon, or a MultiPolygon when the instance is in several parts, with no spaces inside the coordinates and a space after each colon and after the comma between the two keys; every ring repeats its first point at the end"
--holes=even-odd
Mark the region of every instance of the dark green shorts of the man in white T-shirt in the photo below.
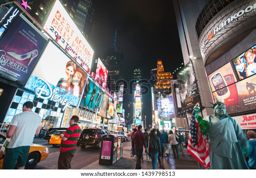
{"type": "Polygon", "coordinates": [[[14,169],[15,164],[16,167],[25,166],[29,156],[29,149],[30,146],[6,148],[6,155],[3,157],[3,169],[14,169]]]}

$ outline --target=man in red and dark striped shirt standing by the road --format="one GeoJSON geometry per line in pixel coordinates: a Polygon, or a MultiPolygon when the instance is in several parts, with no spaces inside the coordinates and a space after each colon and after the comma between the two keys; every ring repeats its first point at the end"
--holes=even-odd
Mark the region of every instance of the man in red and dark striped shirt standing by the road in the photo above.
{"type": "Polygon", "coordinates": [[[70,127],[61,134],[60,155],[58,158],[58,169],[71,169],[71,160],[76,152],[77,140],[81,129],[77,124],[79,117],[73,115],[70,118],[70,127]]]}

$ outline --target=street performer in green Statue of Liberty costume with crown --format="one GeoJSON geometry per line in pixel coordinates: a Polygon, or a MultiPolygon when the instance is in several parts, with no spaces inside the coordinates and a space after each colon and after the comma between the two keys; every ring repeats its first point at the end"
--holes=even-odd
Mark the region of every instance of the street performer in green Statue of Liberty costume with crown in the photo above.
{"type": "Polygon", "coordinates": [[[202,119],[194,107],[202,134],[208,137],[211,169],[249,169],[244,156],[249,155],[249,144],[239,124],[226,113],[224,103],[211,103],[214,115],[202,119]],[[244,152],[244,153],[243,153],[244,152]],[[245,154],[245,155],[244,155],[245,154]]]}

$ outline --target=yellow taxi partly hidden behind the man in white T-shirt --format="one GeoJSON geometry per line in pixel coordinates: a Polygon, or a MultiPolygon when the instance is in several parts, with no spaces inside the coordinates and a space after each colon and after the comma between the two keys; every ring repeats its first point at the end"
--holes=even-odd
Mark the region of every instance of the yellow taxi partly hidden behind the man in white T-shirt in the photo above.
{"type": "MultiPolygon", "coordinates": [[[[6,135],[0,133],[0,148],[3,146],[3,142],[6,140],[6,135]]],[[[29,149],[29,157],[27,159],[25,169],[34,169],[35,166],[44,161],[49,155],[47,146],[32,144],[29,149]]],[[[3,169],[3,157],[4,155],[0,152],[0,169],[3,169]]]]}

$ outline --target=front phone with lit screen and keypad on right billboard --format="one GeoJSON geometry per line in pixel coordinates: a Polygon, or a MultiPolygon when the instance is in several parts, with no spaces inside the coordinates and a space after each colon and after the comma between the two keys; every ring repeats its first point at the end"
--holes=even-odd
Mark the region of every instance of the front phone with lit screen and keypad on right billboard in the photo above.
{"type": "Polygon", "coordinates": [[[216,72],[215,74],[213,74],[211,77],[211,82],[214,89],[216,90],[219,99],[224,100],[230,96],[230,90],[227,87],[227,83],[224,80],[221,72],[216,72]]]}

